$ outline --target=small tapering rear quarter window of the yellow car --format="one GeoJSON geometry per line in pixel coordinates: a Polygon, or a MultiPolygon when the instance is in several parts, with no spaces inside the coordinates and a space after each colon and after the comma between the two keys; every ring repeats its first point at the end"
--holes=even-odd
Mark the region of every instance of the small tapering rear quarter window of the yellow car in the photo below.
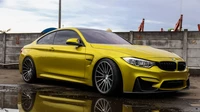
{"type": "Polygon", "coordinates": [[[37,44],[53,44],[55,34],[56,33],[54,32],[42,37],[38,40],[37,44]]]}

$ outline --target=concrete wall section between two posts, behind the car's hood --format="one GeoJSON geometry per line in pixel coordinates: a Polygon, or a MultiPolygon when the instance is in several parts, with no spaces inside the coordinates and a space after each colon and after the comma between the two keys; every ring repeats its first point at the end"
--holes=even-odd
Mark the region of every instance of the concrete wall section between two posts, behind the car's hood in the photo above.
{"type": "Polygon", "coordinates": [[[133,35],[133,44],[149,45],[183,57],[183,32],[144,32],[133,35]]]}

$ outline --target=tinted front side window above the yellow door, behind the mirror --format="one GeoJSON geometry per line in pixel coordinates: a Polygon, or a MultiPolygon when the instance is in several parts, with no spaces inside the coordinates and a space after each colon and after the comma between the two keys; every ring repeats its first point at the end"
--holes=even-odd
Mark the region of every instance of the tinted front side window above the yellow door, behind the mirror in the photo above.
{"type": "Polygon", "coordinates": [[[69,38],[79,38],[79,35],[75,31],[71,30],[61,30],[57,31],[56,37],[54,39],[55,45],[66,45],[66,40],[69,38]]]}

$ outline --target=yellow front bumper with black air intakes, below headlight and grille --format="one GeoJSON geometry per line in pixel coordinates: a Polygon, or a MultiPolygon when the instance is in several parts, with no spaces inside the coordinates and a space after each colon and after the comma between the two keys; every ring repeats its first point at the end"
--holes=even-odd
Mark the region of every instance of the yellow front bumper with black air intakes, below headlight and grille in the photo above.
{"type": "Polygon", "coordinates": [[[135,67],[126,62],[119,65],[123,79],[123,91],[130,92],[159,92],[180,91],[189,87],[189,71],[164,71],[159,67],[135,67]]]}

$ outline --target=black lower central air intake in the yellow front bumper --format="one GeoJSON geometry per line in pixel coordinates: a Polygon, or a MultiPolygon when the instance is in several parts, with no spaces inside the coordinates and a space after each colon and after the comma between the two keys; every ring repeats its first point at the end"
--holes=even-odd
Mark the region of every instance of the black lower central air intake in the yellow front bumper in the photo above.
{"type": "Polygon", "coordinates": [[[162,83],[161,88],[180,88],[183,87],[184,81],[176,80],[176,81],[165,81],[162,83]]]}

